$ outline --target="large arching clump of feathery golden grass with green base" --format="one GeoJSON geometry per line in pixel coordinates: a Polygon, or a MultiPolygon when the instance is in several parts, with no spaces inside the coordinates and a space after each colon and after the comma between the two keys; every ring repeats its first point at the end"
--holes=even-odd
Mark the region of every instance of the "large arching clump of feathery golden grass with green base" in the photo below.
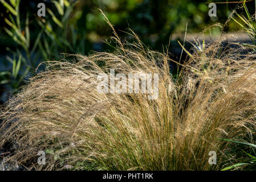
{"type": "Polygon", "coordinates": [[[168,53],[151,51],[139,39],[115,40],[113,53],[48,61],[46,71],[6,103],[0,115],[0,147],[12,147],[6,159],[47,170],[213,170],[233,164],[226,156],[232,146],[216,138],[254,134],[255,55],[239,45],[223,47],[222,38],[195,52],[174,81],[168,53]],[[158,73],[159,97],[97,92],[97,75],[109,77],[109,69],[158,73]],[[46,151],[42,166],[40,150],[46,151]],[[216,165],[209,164],[209,151],[217,152],[216,165]]]}

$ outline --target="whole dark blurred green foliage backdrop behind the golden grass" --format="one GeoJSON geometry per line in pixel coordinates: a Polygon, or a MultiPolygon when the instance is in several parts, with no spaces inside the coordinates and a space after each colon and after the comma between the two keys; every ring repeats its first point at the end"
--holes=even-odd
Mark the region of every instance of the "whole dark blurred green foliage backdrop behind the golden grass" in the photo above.
{"type": "MultiPolygon", "coordinates": [[[[222,0],[226,1],[226,0],[222,0]]],[[[222,2],[216,1],[216,2],[222,2]]],[[[201,32],[204,27],[224,24],[236,3],[217,4],[217,17],[208,16],[212,1],[189,0],[56,0],[0,1],[0,95],[14,92],[45,60],[59,60],[60,53],[111,51],[112,31],[98,9],[103,10],[121,39],[133,41],[124,31],[131,28],[152,49],[162,50],[173,34],[201,32]],[[46,5],[46,17],[38,17],[38,3],[46,5]]],[[[254,13],[254,2],[248,3],[254,13]],[[251,6],[253,5],[253,6],[251,6]]],[[[238,9],[239,14],[239,9],[238,9]]],[[[230,21],[225,31],[239,30],[230,21]]],[[[173,43],[171,46],[177,44],[173,43]]]]}

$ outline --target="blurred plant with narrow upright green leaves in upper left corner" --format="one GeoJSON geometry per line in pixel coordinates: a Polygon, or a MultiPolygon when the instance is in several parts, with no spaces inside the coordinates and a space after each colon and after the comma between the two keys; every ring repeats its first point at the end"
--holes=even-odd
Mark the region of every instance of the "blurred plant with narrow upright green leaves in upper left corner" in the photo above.
{"type": "Polygon", "coordinates": [[[51,1],[57,10],[55,12],[58,13],[53,13],[49,7],[46,7],[47,17],[36,17],[34,20],[31,18],[35,15],[27,11],[25,18],[23,17],[20,0],[0,2],[8,13],[4,17],[6,26],[3,27],[3,31],[16,43],[16,47],[6,47],[8,55],[5,57],[12,69],[2,71],[0,77],[0,84],[7,84],[7,89],[11,92],[21,86],[23,78],[28,73],[35,73],[40,60],[55,59],[60,51],[75,52],[76,47],[81,46],[77,45],[74,26],[68,22],[75,6],[74,2],[51,1]],[[57,14],[60,18],[56,17],[57,14]],[[31,31],[32,26],[37,26],[36,31],[31,31]],[[70,40],[68,34],[71,34],[70,40]]]}

